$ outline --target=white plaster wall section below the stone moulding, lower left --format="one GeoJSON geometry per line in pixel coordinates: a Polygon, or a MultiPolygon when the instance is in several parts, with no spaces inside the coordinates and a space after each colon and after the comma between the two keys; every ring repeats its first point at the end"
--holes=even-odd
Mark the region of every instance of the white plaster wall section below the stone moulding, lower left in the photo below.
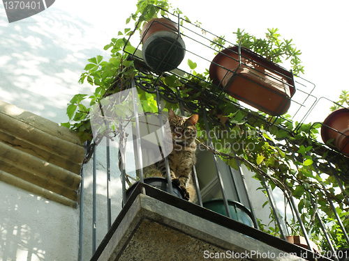
{"type": "Polygon", "coordinates": [[[77,260],[79,210],[0,184],[0,260],[77,260]]]}

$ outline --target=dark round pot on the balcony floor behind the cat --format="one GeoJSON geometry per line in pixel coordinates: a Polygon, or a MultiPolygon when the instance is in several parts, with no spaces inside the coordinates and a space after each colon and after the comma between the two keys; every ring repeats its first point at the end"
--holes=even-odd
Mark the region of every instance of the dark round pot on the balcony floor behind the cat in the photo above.
{"type": "MultiPolygon", "coordinates": [[[[130,198],[137,184],[138,182],[135,182],[126,190],[126,201],[128,200],[128,198],[130,198]]],[[[170,192],[170,189],[168,188],[168,180],[165,177],[146,177],[144,178],[144,184],[149,184],[156,189],[161,189],[162,191],[166,191],[168,193],[170,192]]],[[[179,186],[177,184],[174,184],[173,182],[172,189],[174,196],[177,196],[178,198],[184,198],[184,193],[181,188],[179,188],[179,186]]]]}

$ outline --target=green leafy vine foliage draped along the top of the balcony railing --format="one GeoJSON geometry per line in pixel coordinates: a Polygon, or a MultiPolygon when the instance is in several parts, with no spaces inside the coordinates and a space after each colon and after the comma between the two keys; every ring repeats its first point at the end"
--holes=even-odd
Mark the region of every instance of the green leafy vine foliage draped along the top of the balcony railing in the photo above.
{"type": "MultiPolygon", "coordinates": [[[[69,121],[61,125],[77,132],[82,142],[92,141],[91,108],[101,104],[105,97],[130,88],[133,79],[144,88],[156,85],[163,97],[167,97],[164,100],[165,110],[179,109],[179,104],[173,102],[179,93],[181,101],[188,104],[188,111],[200,115],[205,111],[209,115],[209,129],[214,135],[211,134],[213,145],[207,149],[220,156],[232,168],[237,168],[237,161],[240,161],[255,173],[256,179],[262,181],[265,178],[272,189],[277,187],[283,193],[295,197],[304,223],[309,227],[313,238],[319,242],[323,237],[318,235],[320,225],[315,215],[320,214],[321,219],[329,224],[328,230],[334,242],[337,246],[343,246],[343,235],[339,236],[338,228],[333,225],[334,214],[327,199],[334,202],[336,212],[348,228],[348,159],[318,142],[321,125],[292,122],[288,115],[271,122],[264,113],[242,109],[232,97],[214,103],[209,96],[212,84],[207,72],[195,72],[195,61],[188,60],[192,71],[186,77],[157,75],[146,68],[140,68],[130,58],[129,54],[135,51],[135,47],[128,41],[129,36],[138,32],[142,24],[153,17],[166,16],[169,12],[181,14],[181,11],[172,8],[165,0],[140,0],[136,8],[135,13],[126,19],[128,25],[134,22],[135,30],[126,28],[119,31],[117,37],[105,45],[104,49],[109,50],[110,58],[98,55],[88,60],[79,82],[90,84],[91,93],[74,95],[66,110],[69,121]],[[317,207],[314,208],[312,200],[315,198],[317,207]]],[[[182,23],[191,23],[188,17],[183,17],[182,23]]],[[[200,25],[198,22],[195,24],[200,25]]],[[[293,47],[292,40],[280,40],[278,29],[268,29],[266,39],[255,38],[241,29],[235,35],[242,46],[275,63],[290,59],[295,73],[304,72],[299,59],[301,53],[293,47]]],[[[212,39],[211,46],[218,50],[223,48],[224,37],[212,39]]],[[[155,113],[157,107],[154,93],[140,90],[139,96],[144,111],[155,113]]],[[[348,105],[348,93],[343,91],[339,104],[348,105]]],[[[335,106],[338,105],[334,105],[333,109],[335,106]]],[[[202,117],[198,122],[198,131],[198,143],[204,144],[208,134],[202,117]]],[[[260,226],[274,235],[278,233],[276,227],[260,226]]],[[[295,223],[290,226],[291,233],[299,232],[295,223]]]]}

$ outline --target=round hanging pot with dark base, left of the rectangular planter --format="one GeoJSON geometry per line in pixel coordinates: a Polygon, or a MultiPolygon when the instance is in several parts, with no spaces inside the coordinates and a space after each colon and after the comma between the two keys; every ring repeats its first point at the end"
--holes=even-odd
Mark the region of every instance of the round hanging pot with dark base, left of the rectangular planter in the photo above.
{"type": "Polygon", "coordinates": [[[141,32],[142,55],[145,63],[156,72],[167,72],[183,61],[186,46],[178,25],[167,18],[154,18],[141,32]]]}

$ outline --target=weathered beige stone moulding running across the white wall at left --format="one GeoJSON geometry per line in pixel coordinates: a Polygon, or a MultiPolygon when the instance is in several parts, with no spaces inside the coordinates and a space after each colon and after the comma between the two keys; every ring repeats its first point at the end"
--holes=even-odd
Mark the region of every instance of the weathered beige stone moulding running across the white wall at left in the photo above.
{"type": "Polygon", "coordinates": [[[0,101],[1,180],[69,206],[85,149],[66,127],[0,101]]]}

